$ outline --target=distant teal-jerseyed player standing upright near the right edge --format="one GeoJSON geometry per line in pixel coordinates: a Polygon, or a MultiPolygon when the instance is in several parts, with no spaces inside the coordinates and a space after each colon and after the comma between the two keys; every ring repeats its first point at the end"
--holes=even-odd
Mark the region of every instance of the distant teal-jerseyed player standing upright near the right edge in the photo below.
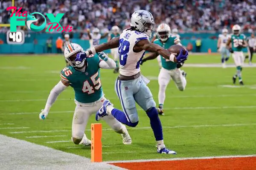
{"type": "Polygon", "coordinates": [[[234,25],[232,28],[233,34],[227,40],[227,48],[229,47],[230,43],[232,47],[230,48],[230,53],[232,53],[232,57],[234,59],[236,65],[236,74],[232,77],[233,84],[236,84],[236,78],[239,78],[239,84],[244,85],[242,80],[242,66],[244,65],[244,53],[243,48],[247,47],[247,42],[245,41],[245,35],[240,34],[241,27],[239,25],[234,25]]]}

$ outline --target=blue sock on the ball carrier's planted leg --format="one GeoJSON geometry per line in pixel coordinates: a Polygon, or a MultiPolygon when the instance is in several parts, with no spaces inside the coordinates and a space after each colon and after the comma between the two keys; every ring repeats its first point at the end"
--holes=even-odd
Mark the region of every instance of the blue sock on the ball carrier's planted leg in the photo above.
{"type": "Polygon", "coordinates": [[[158,117],[157,109],[150,108],[148,111],[146,111],[146,113],[150,119],[150,125],[154,132],[156,141],[163,140],[163,129],[162,129],[160,119],[158,117]]]}

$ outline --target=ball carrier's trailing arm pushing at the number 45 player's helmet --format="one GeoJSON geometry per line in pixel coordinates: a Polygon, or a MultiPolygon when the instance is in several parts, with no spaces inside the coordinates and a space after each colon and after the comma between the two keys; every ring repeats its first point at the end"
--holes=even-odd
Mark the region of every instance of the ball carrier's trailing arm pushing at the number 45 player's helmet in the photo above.
{"type": "Polygon", "coordinates": [[[117,48],[119,45],[119,37],[113,38],[112,40],[105,42],[103,44],[100,45],[96,45],[93,48],[90,48],[89,50],[85,51],[85,54],[87,56],[91,55],[91,54],[96,54],[99,52],[102,52],[104,50],[108,50],[108,49],[112,49],[112,48],[117,48]]]}

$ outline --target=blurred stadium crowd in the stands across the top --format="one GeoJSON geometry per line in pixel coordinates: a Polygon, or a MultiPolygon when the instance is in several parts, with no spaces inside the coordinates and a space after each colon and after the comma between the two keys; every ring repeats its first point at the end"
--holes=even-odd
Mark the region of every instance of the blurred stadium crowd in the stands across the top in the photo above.
{"type": "MultiPolygon", "coordinates": [[[[9,23],[9,6],[11,0],[0,1],[0,23],[9,23]]],[[[244,31],[256,29],[256,0],[15,0],[15,6],[29,13],[65,13],[61,25],[76,31],[127,28],[139,9],[151,11],[156,25],[165,22],[179,31],[219,31],[234,24],[244,31]]]]}

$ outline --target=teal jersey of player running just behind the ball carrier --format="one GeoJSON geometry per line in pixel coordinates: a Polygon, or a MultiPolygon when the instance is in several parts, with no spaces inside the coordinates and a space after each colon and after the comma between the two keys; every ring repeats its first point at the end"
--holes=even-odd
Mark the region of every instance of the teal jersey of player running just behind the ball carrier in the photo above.
{"type": "MultiPolygon", "coordinates": [[[[172,45],[175,45],[174,40],[176,37],[169,37],[166,42],[161,42],[159,39],[154,40],[155,44],[160,45],[161,47],[168,49],[172,45]]],[[[164,58],[161,56],[161,62],[162,62],[162,67],[167,69],[167,70],[172,70],[177,68],[177,63],[170,61],[169,59],[164,58]]]]}

